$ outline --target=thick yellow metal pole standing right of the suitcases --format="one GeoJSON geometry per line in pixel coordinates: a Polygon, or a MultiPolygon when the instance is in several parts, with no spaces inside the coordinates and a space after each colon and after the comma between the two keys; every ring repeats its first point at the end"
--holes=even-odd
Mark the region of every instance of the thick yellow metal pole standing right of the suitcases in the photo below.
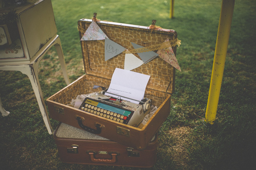
{"type": "Polygon", "coordinates": [[[211,84],[205,115],[205,121],[211,124],[213,124],[216,119],[234,6],[235,0],[222,0],[218,35],[213,60],[213,70],[211,73],[211,84]]]}

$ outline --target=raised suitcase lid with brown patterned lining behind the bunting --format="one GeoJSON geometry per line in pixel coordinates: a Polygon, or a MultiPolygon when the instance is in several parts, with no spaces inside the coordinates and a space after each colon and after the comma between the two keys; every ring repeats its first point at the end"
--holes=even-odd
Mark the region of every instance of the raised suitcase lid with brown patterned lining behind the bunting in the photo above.
{"type": "MultiPolygon", "coordinates": [[[[80,40],[91,22],[92,19],[81,19],[78,21],[80,40]]],[[[116,42],[128,50],[134,49],[131,42],[143,47],[148,47],[161,44],[167,38],[169,41],[177,39],[177,33],[175,30],[162,28],[151,30],[146,26],[136,26],[108,21],[97,21],[96,23],[107,35],[109,40],[116,42]]],[[[115,68],[124,68],[125,54],[118,54],[117,56],[105,61],[104,41],[105,40],[81,41],[83,64],[85,74],[111,80],[115,68]]],[[[176,45],[172,48],[176,55],[176,45]]],[[[157,50],[154,52],[157,52],[157,50]]],[[[134,55],[140,58],[137,53],[134,53],[134,55]]],[[[150,75],[147,88],[173,93],[175,68],[159,56],[131,71],[150,75]]]]}

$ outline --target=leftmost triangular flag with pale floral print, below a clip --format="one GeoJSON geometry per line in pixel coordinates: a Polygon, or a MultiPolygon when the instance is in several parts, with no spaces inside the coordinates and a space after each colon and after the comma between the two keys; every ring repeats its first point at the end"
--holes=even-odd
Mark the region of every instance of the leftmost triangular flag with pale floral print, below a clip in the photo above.
{"type": "Polygon", "coordinates": [[[97,23],[92,20],[92,23],[85,31],[83,37],[81,38],[81,41],[105,40],[106,37],[107,35],[100,29],[97,23]]]}

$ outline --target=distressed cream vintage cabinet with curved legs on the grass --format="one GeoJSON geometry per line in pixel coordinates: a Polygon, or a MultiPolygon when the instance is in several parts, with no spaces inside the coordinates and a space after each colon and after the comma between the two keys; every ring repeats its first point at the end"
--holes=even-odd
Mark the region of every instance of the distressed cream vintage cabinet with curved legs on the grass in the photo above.
{"type": "MultiPolygon", "coordinates": [[[[10,12],[11,10],[12,8],[0,9],[0,13],[10,12]]],[[[6,33],[9,32],[9,37],[14,38],[10,45],[0,46],[0,70],[20,71],[28,76],[45,126],[48,133],[52,134],[53,130],[38,79],[38,65],[52,46],[55,46],[57,50],[65,82],[70,84],[61,42],[59,35],[57,35],[52,2],[51,0],[38,0],[33,4],[15,7],[13,10],[16,11],[18,16],[17,23],[7,28],[6,33]]],[[[2,26],[2,28],[6,28],[6,26],[2,26]]],[[[2,116],[9,114],[4,109],[1,98],[0,112],[2,116]]]]}

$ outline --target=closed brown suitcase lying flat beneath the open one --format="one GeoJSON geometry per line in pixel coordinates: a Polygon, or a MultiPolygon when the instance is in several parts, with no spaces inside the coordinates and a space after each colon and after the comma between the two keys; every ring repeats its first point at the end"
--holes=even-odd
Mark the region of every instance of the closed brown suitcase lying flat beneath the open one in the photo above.
{"type": "Polygon", "coordinates": [[[90,165],[152,167],[156,162],[157,135],[143,151],[60,123],[54,133],[60,160],[90,165]]]}

